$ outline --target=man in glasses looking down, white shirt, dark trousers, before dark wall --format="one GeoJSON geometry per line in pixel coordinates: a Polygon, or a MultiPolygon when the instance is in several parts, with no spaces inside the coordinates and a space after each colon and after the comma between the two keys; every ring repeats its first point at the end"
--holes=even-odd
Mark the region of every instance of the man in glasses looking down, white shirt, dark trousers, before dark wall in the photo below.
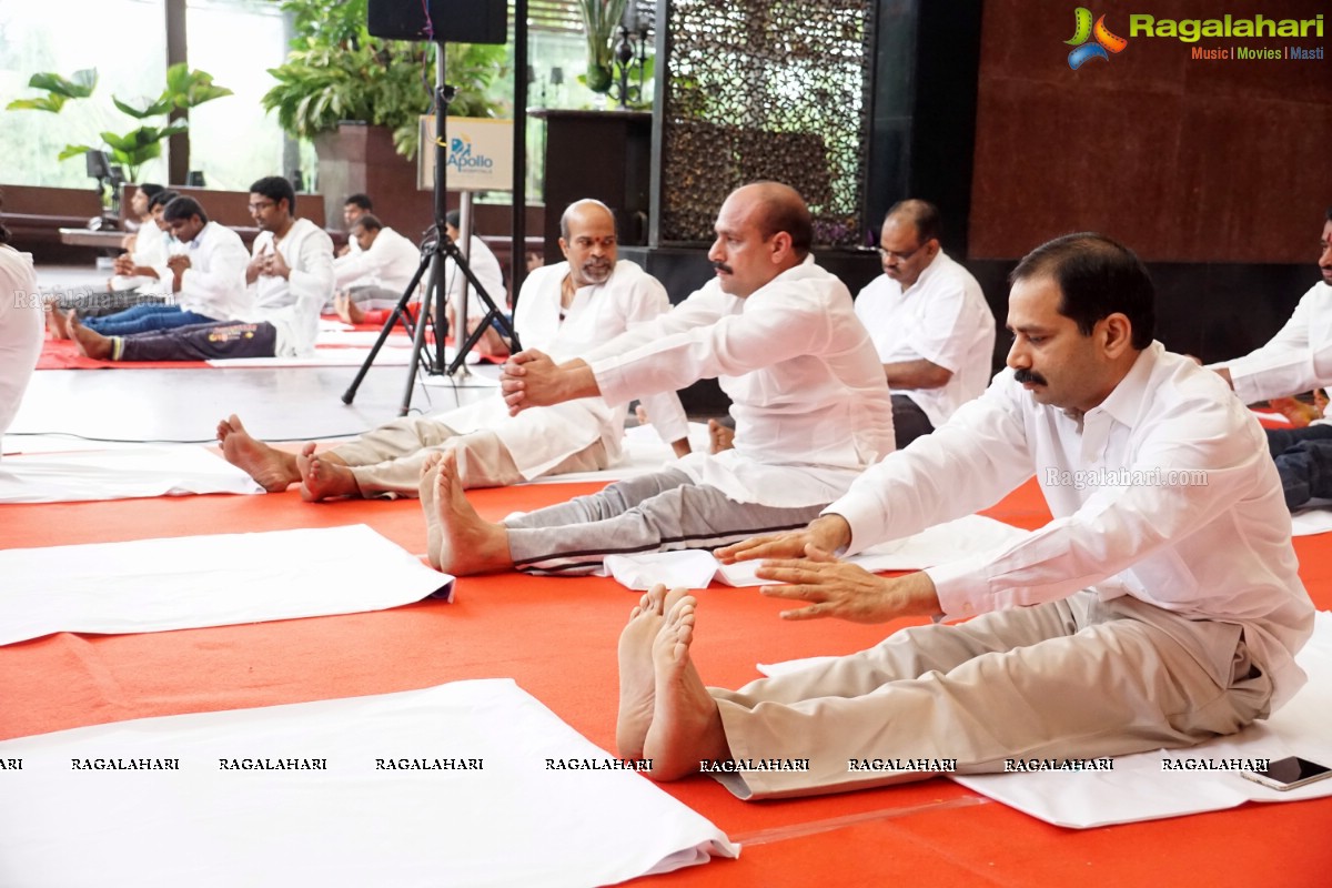
{"type": "Polygon", "coordinates": [[[892,390],[898,450],[934,431],[990,383],[995,317],[971,273],[939,246],[939,210],[894,204],[883,220],[883,274],[855,297],[892,390]]]}

